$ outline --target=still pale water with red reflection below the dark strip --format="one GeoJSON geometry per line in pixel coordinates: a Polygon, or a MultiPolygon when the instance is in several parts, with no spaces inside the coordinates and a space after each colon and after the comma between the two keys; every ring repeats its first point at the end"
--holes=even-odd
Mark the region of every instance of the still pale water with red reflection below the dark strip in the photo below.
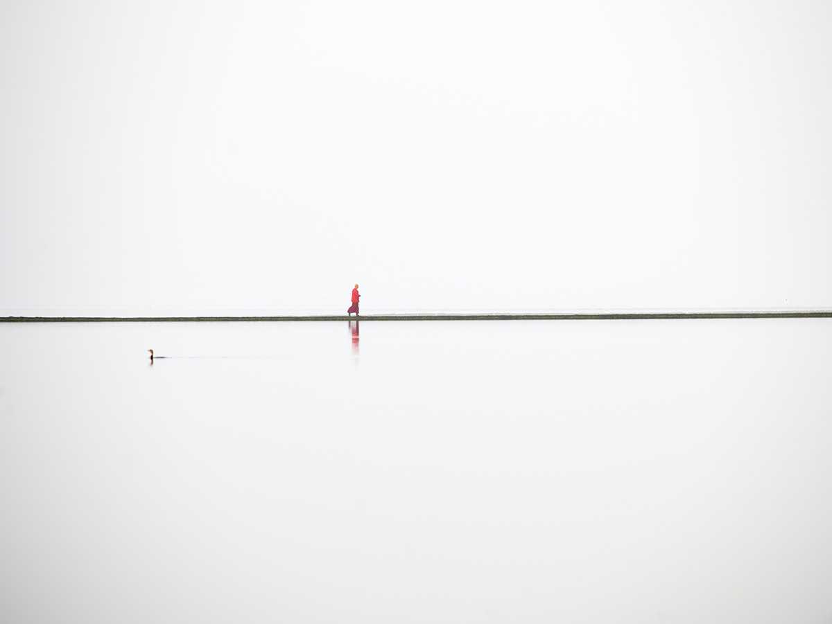
{"type": "Polygon", "coordinates": [[[7,622],[832,619],[827,319],[0,348],[7,622]]]}

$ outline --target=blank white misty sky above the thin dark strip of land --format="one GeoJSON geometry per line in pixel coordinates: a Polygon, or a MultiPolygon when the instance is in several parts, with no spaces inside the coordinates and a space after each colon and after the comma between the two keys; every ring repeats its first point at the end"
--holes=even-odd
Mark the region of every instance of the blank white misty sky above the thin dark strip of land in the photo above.
{"type": "Polygon", "coordinates": [[[0,313],[832,304],[828,2],[0,19],[0,313]]]}

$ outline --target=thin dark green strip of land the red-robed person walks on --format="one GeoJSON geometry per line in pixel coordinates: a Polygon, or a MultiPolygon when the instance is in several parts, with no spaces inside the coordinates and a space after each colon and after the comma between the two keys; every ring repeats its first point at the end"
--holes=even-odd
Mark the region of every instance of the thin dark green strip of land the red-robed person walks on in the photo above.
{"type": "Polygon", "coordinates": [[[297,322],[297,321],[627,321],[706,318],[832,318],[832,310],[746,312],[564,312],[541,314],[376,314],[359,317],[0,317],[0,322],[297,322]]]}

